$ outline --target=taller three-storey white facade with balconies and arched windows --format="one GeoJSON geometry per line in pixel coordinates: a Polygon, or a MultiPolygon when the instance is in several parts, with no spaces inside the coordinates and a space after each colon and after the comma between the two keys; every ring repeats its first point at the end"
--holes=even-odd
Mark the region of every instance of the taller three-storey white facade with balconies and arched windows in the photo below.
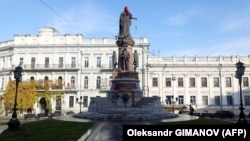
{"type": "MultiPolygon", "coordinates": [[[[145,66],[140,64],[145,64],[143,61],[146,60],[149,43],[146,37],[134,41],[133,50],[137,50],[139,56],[137,71],[142,74],[145,66]]],[[[59,78],[62,80],[64,94],[52,98],[53,111],[78,112],[80,105],[76,98],[80,97],[82,109],[86,110],[84,107],[88,106],[90,97],[106,97],[110,89],[113,51],[118,53],[116,39],[83,38],[81,34],[59,35],[53,27],[41,28],[35,36],[15,35],[14,40],[0,43],[0,95],[3,95],[8,80],[14,79],[14,68],[21,64],[23,81],[31,78],[44,81],[45,77],[53,82],[59,78]]],[[[142,77],[145,76],[140,75],[140,80],[145,80],[142,77]]],[[[43,111],[39,104],[33,108],[36,113],[43,111]]]]}

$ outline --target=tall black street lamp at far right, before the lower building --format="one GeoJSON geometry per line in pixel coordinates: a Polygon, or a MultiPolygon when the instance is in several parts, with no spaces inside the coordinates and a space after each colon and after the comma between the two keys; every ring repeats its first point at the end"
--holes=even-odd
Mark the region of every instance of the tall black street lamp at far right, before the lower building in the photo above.
{"type": "Polygon", "coordinates": [[[235,77],[239,79],[239,85],[240,85],[240,115],[237,124],[247,124],[247,120],[245,119],[245,114],[244,114],[244,107],[242,103],[242,88],[241,88],[241,83],[242,83],[242,75],[244,75],[245,71],[245,66],[242,62],[238,62],[235,64],[237,71],[235,77]]]}

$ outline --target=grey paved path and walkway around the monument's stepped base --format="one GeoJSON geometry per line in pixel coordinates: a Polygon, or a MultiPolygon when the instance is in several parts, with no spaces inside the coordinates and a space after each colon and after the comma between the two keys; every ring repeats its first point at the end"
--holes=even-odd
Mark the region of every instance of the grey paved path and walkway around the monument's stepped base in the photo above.
{"type": "MultiPolygon", "coordinates": [[[[183,120],[192,120],[196,119],[195,116],[190,115],[179,115],[177,118],[168,118],[160,120],[161,122],[174,122],[174,121],[183,121],[183,120]]],[[[75,118],[73,115],[62,115],[55,116],[55,120],[64,120],[64,121],[75,121],[75,122],[90,122],[94,121],[96,124],[89,129],[78,141],[122,141],[122,125],[123,124],[142,124],[142,125],[153,125],[159,120],[89,120],[75,118]]],[[[0,126],[0,133],[8,128],[7,125],[0,126]]]]}

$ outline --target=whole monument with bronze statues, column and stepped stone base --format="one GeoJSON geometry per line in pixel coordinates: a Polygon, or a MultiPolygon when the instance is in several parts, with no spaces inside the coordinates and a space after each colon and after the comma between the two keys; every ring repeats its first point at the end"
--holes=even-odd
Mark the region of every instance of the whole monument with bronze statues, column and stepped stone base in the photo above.
{"type": "Polygon", "coordinates": [[[144,97],[136,68],[139,64],[135,44],[130,35],[131,20],[135,19],[128,7],[120,15],[119,35],[113,51],[112,85],[108,97],[92,97],[88,112],[74,115],[98,120],[156,120],[174,118],[177,115],[163,112],[160,97],[144,97]],[[117,61],[118,60],[118,61],[117,61]]]}

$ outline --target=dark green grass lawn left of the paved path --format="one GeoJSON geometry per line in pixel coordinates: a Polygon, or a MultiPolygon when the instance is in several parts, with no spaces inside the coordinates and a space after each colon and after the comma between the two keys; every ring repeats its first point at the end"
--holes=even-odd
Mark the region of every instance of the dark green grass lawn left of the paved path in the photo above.
{"type": "Polygon", "coordinates": [[[76,141],[94,124],[53,119],[27,122],[17,131],[2,132],[0,141],[76,141]]]}

